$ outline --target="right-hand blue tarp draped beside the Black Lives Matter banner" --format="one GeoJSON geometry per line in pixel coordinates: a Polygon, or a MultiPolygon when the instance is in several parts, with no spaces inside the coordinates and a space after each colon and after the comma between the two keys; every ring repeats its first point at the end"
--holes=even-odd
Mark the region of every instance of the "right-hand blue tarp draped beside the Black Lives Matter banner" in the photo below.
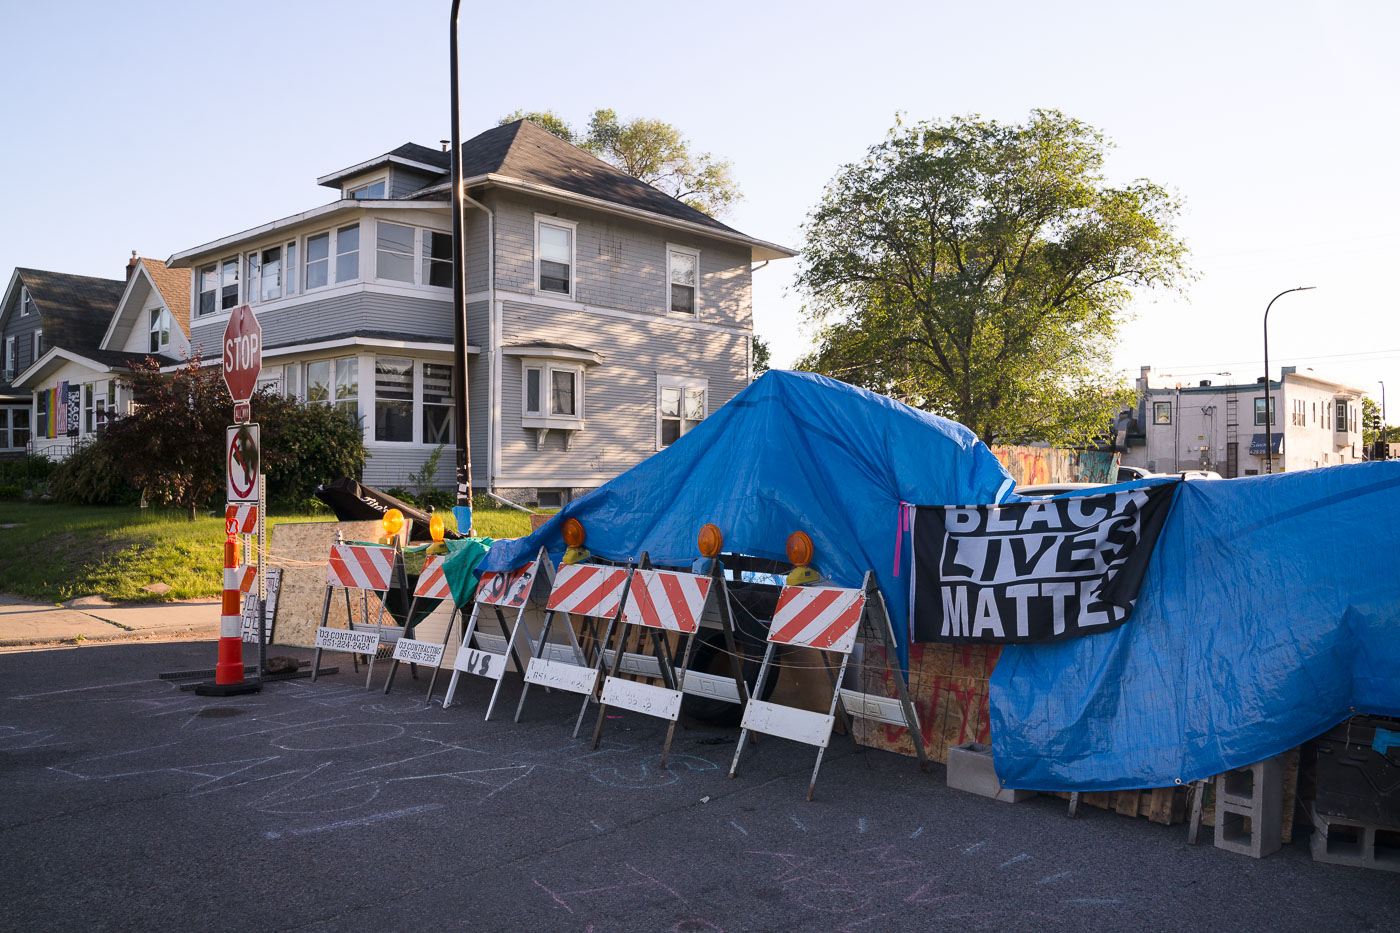
{"type": "Polygon", "coordinates": [[[1009,787],[1161,787],[1400,716],[1400,462],[1182,483],[1127,625],[1007,647],[1009,787]]]}

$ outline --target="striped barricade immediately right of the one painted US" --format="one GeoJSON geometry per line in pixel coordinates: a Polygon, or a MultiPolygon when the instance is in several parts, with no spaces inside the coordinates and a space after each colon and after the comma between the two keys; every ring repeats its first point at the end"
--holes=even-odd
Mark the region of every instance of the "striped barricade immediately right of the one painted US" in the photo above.
{"type": "Polygon", "coordinates": [[[598,688],[598,677],[603,670],[603,654],[598,649],[606,646],[612,637],[630,579],[631,567],[566,563],[559,569],[549,600],[545,602],[545,623],[540,626],[539,642],[531,646],[533,657],[531,657],[529,667],[525,668],[525,688],[521,691],[521,702],[515,707],[517,723],[521,719],[521,710],[525,709],[525,698],[529,696],[531,684],[539,684],[546,689],[584,695],[584,705],[574,723],[574,735],[578,735],[578,727],[584,721],[588,702],[598,688]],[[549,640],[554,619],[560,615],[564,616],[561,628],[568,636],[567,644],[549,640]],[[584,621],[584,629],[589,635],[594,649],[592,658],[584,654],[578,644],[573,616],[584,621]],[[608,629],[602,639],[598,639],[595,622],[603,619],[608,622],[608,629]]]}

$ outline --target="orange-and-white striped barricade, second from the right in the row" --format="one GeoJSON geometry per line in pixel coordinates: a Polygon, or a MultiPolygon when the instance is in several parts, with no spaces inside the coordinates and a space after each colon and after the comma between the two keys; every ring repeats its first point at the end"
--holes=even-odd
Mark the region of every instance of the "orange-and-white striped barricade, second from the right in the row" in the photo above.
{"type": "MultiPolygon", "coordinates": [[[[645,563],[645,556],[643,556],[643,562],[645,563]]],[[[714,689],[714,681],[728,681],[728,678],[717,678],[708,674],[701,675],[697,671],[686,670],[690,665],[690,653],[701,623],[724,632],[734,665],[734,679],[729,681],[734,691],[731,702],[745,703],[749,695],[739,667],[734,639],[734,619],[729,612],[729,600],[720,562],[711,562],[710,574],[655,570],[650,567],[638,567],[633,572],[631,586],[627,588],[627,598],[623,601],[616,653],[612,656],[610,671],[603,681],[599,698],[598,721],[594,726],[594,748],[598,747],[602,738],[609,706],[666,719],[671,720],[671,726],[666,728],[666,741],[661,751],[661,766],[665,768],[666,756],[671,754],[671,740],[676,731],[676,721],[680,719],[680,702],[685,693],[727,699],[727,696],[714,689]],[[627,640],[627,626],[637,626],[650,636],[655,671],[633,670],[626,672],[651,678],[659,677],[662,681],[661,686],[643,684],[636,679],[624,679],[623,647],[627,640]],[[671,653],[671,637],[685,639],[685,651],[679,665],[676,665],[675,657],[671,653]],[[700,688],[699,684],[692,684],[700,678],[707,681],[704,688],[700,688]]]]}

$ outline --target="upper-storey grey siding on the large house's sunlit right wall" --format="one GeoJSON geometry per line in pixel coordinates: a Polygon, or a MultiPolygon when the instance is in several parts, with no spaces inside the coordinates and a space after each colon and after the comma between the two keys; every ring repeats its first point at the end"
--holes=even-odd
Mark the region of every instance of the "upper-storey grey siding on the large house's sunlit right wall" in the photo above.
{"type": "Polygon", "coordinates": [[[497,192],[487,198],[484,203],[496,210],[496,284],[501,290],[536,293],[535,216],[553,216],[578,224],[574,300],[668,317],[666,244],[672,244],[700,251],[699,319],[753,326],[750,254],[745,247],[539,198],[497,192]]]}

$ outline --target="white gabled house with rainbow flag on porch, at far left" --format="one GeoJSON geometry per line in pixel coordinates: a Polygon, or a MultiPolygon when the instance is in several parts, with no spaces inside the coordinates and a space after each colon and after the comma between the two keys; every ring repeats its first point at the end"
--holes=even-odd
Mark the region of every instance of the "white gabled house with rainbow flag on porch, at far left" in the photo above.
{"type": "MultiPolygon", "coordinates": [[[[31,450],[53,458],[66,457],[101,431],[108,417],[129,408],[130,389],[122,375],[133,361],[153,357],[172,363],[189,354],[188,273],[133,252],[125,282],[57,277],[88,283],[81,291],[69,289],[69,294],[81,296],[81,307],[70,307],[66,331],[45,325],[38,360],[14,381],[15,389],[32,396],[31,450]],[[49,333],[57,333],[53,343],[49,333]]],[[[45,291],[38,294],[42,310],[45,291]]]]}

